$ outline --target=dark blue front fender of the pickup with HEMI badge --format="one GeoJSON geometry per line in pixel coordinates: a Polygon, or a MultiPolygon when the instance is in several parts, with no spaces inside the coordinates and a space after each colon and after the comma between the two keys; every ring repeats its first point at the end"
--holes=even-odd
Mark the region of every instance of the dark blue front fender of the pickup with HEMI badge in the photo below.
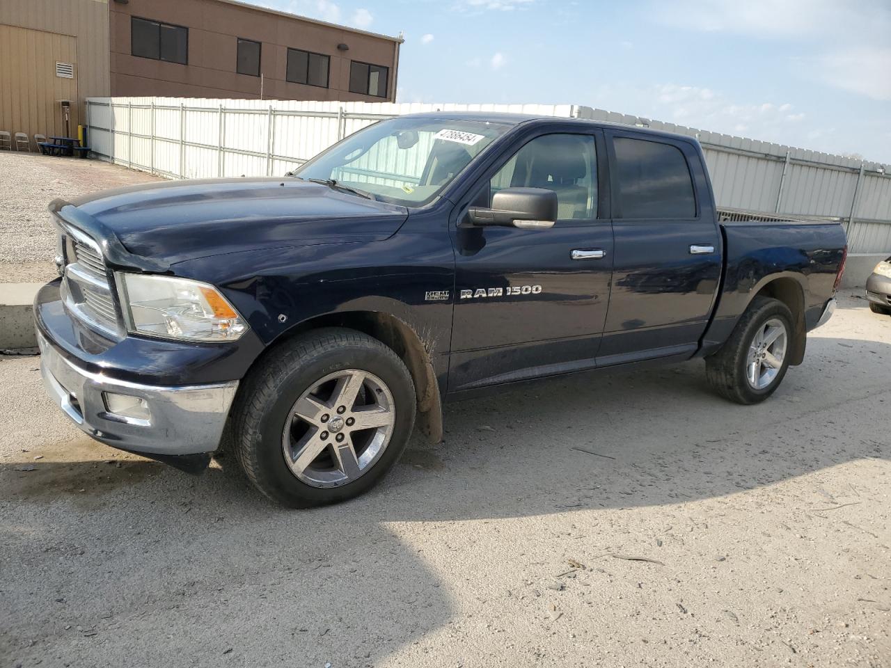
{"type": "Polygon", "coordinates": [[[454,254],[445,233],[404,231],[371,243],[248,250],[174,269],[217,285],[266,347],[307,322],[387,314],[416,334],[437,378],[446,377],[454,254]]]}

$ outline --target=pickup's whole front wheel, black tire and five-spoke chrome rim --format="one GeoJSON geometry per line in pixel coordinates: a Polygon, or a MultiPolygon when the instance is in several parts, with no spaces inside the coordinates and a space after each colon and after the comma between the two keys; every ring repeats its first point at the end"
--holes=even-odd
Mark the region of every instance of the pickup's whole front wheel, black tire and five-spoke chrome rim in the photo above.
{"type": "Polygon", "coordinates": [[[315,330],[252,370],[233,407],[235,452],[249,480],[291,508],[364,493],[399,458],[414,386],[388,346],[361,332],[315,330]]]}

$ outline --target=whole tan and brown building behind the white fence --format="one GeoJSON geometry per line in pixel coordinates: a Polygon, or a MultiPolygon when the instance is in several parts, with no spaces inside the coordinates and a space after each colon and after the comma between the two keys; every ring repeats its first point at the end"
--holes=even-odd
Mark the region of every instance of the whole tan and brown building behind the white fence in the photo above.
{"type": "Polygon", "coordinates": [[[236,0],[0,0],[0,130],[65,134],[87,97],[392,102],[402,39],[236,0]]]}

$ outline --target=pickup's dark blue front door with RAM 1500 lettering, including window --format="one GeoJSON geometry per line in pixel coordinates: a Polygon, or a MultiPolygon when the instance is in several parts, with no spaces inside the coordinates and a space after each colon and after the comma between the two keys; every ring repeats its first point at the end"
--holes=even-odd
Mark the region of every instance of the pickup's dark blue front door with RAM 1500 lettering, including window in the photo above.
{"type": "Polygon", "coordinates": [[[593,367],[597,354],[613,255],[609,218],[598,210],[603,136],[552,132],[520,142],[478,184],[474,204],[490,206],[508,187],[546,188],[557,193],[558,221],[545,230],[470,227],[460,212],[453,391],[593,367]]]}

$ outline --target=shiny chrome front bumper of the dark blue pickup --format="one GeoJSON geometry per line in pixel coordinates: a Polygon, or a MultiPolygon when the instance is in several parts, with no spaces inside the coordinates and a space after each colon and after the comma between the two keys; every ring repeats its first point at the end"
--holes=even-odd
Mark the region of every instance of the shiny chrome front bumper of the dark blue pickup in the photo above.
{"type": "Polygon", "coordinates": [[[123,450],[159,455],[213,452],[223,436],[238,381],[156,387],[80,369],[37,331],[40,371],[53,401],[86,434],[123,450]],[[143,399],[148,419],[111,413],[103,393],[143,399]]]}

